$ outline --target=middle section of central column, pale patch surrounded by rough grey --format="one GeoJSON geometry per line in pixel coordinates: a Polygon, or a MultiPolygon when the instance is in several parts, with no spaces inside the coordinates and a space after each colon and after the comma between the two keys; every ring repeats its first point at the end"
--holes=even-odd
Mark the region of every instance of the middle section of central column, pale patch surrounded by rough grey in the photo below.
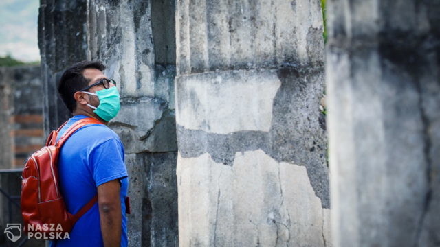
{"type": "Polygon", "coordinates": [[[307,167],[316,195],[322,200],[323,206],[329,208],[327,138],[320,124],[322,113],[319,109],[320,92],[323,90],[322,72],[322,67],[285,67],[268,71],[203,73],[177,78],[177,139],[181,156],[197,157],[208,152],[214,161],[232,165],[236,152],[264,150],[276,161],[307,167]],[[223,86],[228,87],[228,80],[234,78],[234,84],[243,85],[243,90],[249,91],[248,87],[254,86],[254,77],[264,81],[265,91],[272,92],[275,89],[276,93],[259,97],[262,94],[253,93],[253,90],[239,93],[241,89],[236,86],[234,93],[238,96],[229,97],[232,91],[225,93],[219,90],[223,86]],[[194,84],[201,86],[198,93],[193,93],[196,87],[194,84]],[[200,110],[204,105],[197,95],[206,97],[205,104],[223,103],[210,106],[210,110],[200,110]],[[272,97],[267,97],[270,95],[272,97]],[[242,102],[255,102],[256,106],[267,107],[262,108],[262,113],[256,111],[256,114],[249,115],[249,112],[243,113],[247,108],[236,107],[242,102]],[[234,114],[231,115],[230,111],[234,114]],[[189,113],[197,114],[188,117],[189,113]],[[211,115],[214,117],[208,118],[222,119],[223,124],[211,128],[210,120],[205,121],[206,116],[211,115]],[[267,131],[259,131],[254,123],[264,117],[270,119],[270,126],[263,128],[267,131]],[[186,124],[189,128],[194,128],[196,124],[200,129],[191,130],[179,124],[186,124]],[[243,126],[243,130],[239,130],[240,126],[243,126]]]}

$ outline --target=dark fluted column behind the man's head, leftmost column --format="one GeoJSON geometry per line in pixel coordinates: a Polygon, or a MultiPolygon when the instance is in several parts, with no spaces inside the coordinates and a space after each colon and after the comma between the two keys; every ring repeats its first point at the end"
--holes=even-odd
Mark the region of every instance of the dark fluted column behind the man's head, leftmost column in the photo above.
{"type": "Polygon", "coordinates": [[[67,66],[89,59],[87,0],[41,0],[39,48],[45,136],[71,117],[58,96],[57,82],[67,66]]]}

